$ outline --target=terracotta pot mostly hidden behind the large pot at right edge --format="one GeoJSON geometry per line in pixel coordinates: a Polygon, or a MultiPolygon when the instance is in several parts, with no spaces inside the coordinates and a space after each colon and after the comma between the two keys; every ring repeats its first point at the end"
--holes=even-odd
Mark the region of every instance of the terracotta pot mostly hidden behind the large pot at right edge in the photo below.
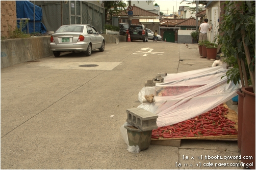
{"type": "Polygon", "coordinates": [[[237,135],[237,143],[238,148],[241,150],[242,143],[242,125],[243,125],[243,106],[244,106],[244,93],[242,92],[242,88],[237,89],[238,94],[238,135],[237,135]]]}

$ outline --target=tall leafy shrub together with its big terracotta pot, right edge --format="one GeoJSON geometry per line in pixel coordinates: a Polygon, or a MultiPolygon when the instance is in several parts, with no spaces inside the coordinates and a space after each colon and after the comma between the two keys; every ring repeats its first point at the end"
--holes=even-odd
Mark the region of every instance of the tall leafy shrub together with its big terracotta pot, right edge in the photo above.
{"type": "MultiPolygon", "coordinates": [[[[242,157],[252,156],[253,160],[243,159],[243,163],[249,164],[255,162],[255,2],[226,1],[224,6],[218,45],[225,46],[223,53],[227,59],[236,59],[226,76],[227,83],[242,85],[238,89],[238,115],[242,115],[242,119],[238,118],[238,127],[242,128],[238,131],[238,143],[242,157]]],[[[249,168],[255,169],[255,164],[249,168]]]]}

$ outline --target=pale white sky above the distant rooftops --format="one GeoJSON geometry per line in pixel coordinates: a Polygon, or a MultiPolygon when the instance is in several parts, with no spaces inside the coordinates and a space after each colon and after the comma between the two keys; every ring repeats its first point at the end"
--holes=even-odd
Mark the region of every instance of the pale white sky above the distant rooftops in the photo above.
{"type": "MultiPolygon", "coordinates": [[[[163,12],[164,14],[171,14],[173,12],[178,11],[178,7],[180,6],[189,6],[189,7],[196,7],[196,5],[188,5],[186,1],[184,1],[182,4],[180,4],[183,1],[170,1],[170,0],[165,0],[165,1],[155,1],[153,4],[158,4],[160,6],[160,11],[163,12]]],[[[192,1],[190,1],[192,2],[192,1]]]]}

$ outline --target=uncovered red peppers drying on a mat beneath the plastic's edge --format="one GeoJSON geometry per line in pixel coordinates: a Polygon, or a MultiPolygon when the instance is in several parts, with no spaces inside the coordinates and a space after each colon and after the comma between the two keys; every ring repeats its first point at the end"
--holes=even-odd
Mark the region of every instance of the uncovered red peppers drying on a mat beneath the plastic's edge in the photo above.
{"type": "Polygon", "coordinates": [[[221,104],[192,119],[154,129],[151,138],[188,138],[237,134],[238,131],[234,126],[236,123],[226,118],[227,113],[228,108],[221,104]]]}

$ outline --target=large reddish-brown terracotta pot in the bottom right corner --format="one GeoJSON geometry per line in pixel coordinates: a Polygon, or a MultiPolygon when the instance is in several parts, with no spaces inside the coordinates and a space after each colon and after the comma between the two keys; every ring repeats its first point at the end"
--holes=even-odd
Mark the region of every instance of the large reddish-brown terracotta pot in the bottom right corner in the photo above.
{"type": "Polygon", "coordinates": [[[251,156],[252,159],[241,159],[241,161],[248,163],[250,169],[255,169],[255,93],[252,87],[242,87],[242,91],[244,92],[244,106],[241,158],[251,156]]]}

